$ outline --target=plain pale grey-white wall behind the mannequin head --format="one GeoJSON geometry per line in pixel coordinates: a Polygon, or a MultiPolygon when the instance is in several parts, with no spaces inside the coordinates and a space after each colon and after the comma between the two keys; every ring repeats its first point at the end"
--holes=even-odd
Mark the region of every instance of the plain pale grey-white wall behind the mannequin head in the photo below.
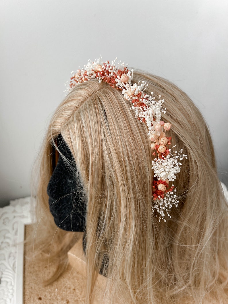
{"type": "Polygon", "coordinates": [[[1,206],[30,194],[64,83],[100,54],[163,76],[193,99],[227,184],[227,16],[226,0],[1,0],[1,206]]]}

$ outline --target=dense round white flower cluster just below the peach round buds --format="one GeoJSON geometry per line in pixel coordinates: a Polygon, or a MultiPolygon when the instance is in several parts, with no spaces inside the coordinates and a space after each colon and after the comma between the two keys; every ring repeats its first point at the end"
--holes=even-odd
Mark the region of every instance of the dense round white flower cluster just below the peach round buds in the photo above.
{"type": "MultiPolygon", "coordinates": [[[[174,146],[175,147],[175,146],[174,146]]],[[[171,149],[169,149],[171,152],[171,149]]],[[[187,158],[187,155],[182,154],[183,149],[175,151],[175,154],[168,154],[166,158],[155,158],[152,161],[152,170],[154,170],[154,177],[157,176],[158,179],[169,181],[174,181],[176,174],[180,172],[180,167],[182,164],[178,161],[182,160],[183,157],[187,158]]]]}

